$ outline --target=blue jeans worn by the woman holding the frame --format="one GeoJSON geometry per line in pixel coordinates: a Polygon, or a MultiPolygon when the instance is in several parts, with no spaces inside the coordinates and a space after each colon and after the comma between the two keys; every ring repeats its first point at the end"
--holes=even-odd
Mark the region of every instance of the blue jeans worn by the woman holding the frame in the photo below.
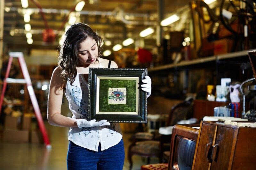
{"type": "Polygon", "coordinates": [[[104,151],[98,152],[83,148],[69,141],[67,167],[68,170],[122,170],[124,166],[123,139],[104,151]]]}

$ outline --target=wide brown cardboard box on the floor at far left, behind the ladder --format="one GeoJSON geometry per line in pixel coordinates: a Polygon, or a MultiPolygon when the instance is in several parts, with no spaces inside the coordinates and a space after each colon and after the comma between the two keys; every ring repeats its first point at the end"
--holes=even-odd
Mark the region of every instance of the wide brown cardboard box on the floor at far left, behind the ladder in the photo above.
{"type": "Polygon", "coordinates": [[[28,139],[28,130],[4,129],[3,142],[26,143],[28,139]]]}

